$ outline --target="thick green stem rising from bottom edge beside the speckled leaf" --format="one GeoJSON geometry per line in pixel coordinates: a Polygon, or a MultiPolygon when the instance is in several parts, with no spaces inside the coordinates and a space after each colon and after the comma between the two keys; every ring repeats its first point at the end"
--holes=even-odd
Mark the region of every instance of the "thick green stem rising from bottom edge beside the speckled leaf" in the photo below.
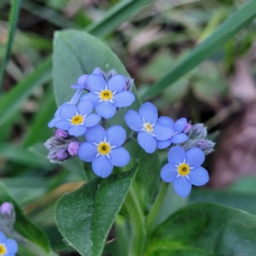
{"type": "Polygon", "coordinates": [[[145,219],[138,198],[136,198],[132,188],[125,199],[125,207],[132,227],[128,256],[140,256],[143,253],[146,242],[145,219]]]}

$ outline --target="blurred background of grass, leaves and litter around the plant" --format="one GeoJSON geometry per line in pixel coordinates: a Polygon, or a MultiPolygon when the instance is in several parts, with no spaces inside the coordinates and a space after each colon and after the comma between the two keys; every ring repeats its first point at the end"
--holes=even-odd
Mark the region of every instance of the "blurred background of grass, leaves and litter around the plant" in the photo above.
{"type": "MultiPolygon", "coordinates": [[[[1,70],[6,63],[0,87],[0,177],[26,213],[44,228],[55,250],[64,253],[68,246],[54,226],[54,203],[83,184],[76,161],[50,164],[42,147],[53,134],[47,127],[56,110],[52,38],[60,29],[85,29],[104,40],[135,79],[141,99],[154,102],[159,115],[175,120],[185,116],[208,126],[209,136],[217,142],[205,163],[211,182],[208,188],[194,189],[188,203],[217,202],[256,214],[256,21],[172,86],[154,97],[147,95],[152,84],[249,2],[0,1],[1,70]],[[8,40],[12,31],[13,42],[8,40]]],[[[157,221],[187,202],[170,188],[157,221]],[[175,207],[170,201],[177,202],[175,207]]]]}

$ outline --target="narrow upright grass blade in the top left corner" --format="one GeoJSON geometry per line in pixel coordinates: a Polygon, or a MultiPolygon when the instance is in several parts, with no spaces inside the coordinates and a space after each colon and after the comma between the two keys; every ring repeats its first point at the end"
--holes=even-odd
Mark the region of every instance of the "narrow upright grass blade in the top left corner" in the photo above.
{"type": "Polygon", "coordinates": [[[21,0],[13,0],[12,1],[12,9],[10,12],[10,19],[9,19],[10,28],[9,28],[8,42],[6,44],[6,51],[4,54],[4,59],[3,59],[2,67],[0,70],[0,92],[1,92],[3,79],[4,79],[4,71],[5,71],[9,56],[10,56],[10,52],[11,52],[12,44],[13,44],[13,38],[15,35],[15,30],[17,28],[17,22],[18,22],[19,13],[20,13],[20,5],[21,5],[21,0]]]}

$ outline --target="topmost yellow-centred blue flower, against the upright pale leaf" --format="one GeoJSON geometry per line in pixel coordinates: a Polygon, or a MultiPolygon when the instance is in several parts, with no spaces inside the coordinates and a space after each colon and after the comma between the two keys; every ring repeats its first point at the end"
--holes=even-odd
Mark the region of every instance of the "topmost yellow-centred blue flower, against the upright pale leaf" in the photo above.
{"type": "Polygon", "coordinates": [[[81,97],[81,100],[92,100],[96,112],[108,119],[115,115],[116,107],[125,108],[134,102],[133,93],[123,90],[125,77],[116,75],[105,81],[97,74],[89,75],[86,84],[90,92],[81,97]]]}

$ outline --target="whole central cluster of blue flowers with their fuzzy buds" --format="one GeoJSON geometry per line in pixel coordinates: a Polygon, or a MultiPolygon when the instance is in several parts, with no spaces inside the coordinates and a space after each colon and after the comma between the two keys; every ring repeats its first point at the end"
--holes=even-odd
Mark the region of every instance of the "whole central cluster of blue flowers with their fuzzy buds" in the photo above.
{"type": "Polygon", "coordinates": [[[170,148],[168,161],[161,170],[165,182],[173,182],[180,196],[187,196],[191,185],[202,186],[209,180],[207,171],[200,167],[204,155],[211,152],[212,141],[206,140],[204,125],[191,125],[186,118],[176,122],[168,116],[158,116],[157,108],[150,102],[138,111],[129,109],[124,120],[133,131],[127,138],[120,125],[108,127],[107,120],[116,111],[131,106],[135,97],[133,79],[95,68],[92,74],[83,74],[72,84],[76,93],[58,108],[49,127],[56,127],[55,136],[47,140],[51,163],[79,156],[92,162],[92,170],[99,177],[108,177],[114,166],[125,166],[130,161],[129,152],[122,146],[136,138],[145,152],[152,154],[157,148],[170,148]]]}

